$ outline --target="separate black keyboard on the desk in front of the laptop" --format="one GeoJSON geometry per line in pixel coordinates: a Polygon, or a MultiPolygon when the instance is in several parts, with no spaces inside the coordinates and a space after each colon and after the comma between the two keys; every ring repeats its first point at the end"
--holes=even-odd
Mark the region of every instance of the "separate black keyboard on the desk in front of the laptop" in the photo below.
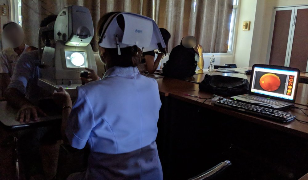
{"type": "Polygon", "coordinates": [[[252,104],[242,103],[235,100],[229,100],[229,99],[223,99],[220,101],[215,102],[215,105],[221,106],[224,108],[231,108],[236,109],[238,111],[248,113],[248,114],[254,114],[260,117],[264,117],[273,121],[278,122],[289,122],[294,120],[296,116],[283,112],[278,111],[270,108],[264,108],[261,106],[256,106],[252,104]]]}

